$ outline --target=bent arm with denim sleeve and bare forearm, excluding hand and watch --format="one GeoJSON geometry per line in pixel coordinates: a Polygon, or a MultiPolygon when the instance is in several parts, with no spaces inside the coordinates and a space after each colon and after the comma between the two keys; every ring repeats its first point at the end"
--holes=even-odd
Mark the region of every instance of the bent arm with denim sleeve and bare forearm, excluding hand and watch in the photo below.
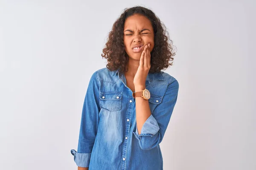
{"type": "Polygon", "coordinates": [[[173,78],[173,81],[167,86],[162,102],[157,105],[152,114],[148,101],[142,97],[138,99],[136,97],[137,127],[134,135],[143,150],[150,150],[162,142],[177,101],[178,89],[179,84],[173,78]]]}

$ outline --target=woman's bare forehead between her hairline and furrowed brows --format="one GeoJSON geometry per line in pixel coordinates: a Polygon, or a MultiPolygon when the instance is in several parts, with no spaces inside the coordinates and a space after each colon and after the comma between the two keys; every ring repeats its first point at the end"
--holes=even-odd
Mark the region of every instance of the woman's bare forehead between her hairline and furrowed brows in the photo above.
{"type": "Polygon", "coordinates": [[[142,29],[142,28],[148,28],[148,29],[153,28],[150,20],[148,20],[148,18],[143,15],[134,14],[125,20],[124,30],[125,29],[136,30],[136,29],[142,29]]]}

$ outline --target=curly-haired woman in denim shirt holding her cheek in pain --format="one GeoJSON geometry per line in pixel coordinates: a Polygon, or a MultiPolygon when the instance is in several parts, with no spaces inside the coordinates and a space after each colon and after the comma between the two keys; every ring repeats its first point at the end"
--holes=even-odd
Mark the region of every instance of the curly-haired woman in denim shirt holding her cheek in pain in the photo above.
{"type": "Polygon", "coordinates": [[[159,144],[179,88],[161,71],[172,65],[171,43],[158,17],[141,6],[113,24],[102,54],[107,68],[90,78],[78,152],[71,150],[78,170],[163,170],[159,144]]]}

